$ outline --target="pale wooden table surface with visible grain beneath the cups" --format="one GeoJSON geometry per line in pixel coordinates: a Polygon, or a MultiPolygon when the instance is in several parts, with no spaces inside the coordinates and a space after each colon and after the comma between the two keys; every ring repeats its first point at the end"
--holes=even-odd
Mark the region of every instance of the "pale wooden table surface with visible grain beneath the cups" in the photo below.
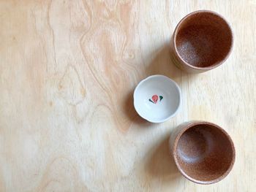
{"type": "Polygon", "coordinates": [[[0,2],[0,191],[255,191],[256,1],[0,2]],[[197,9],[223,15],[225,64],[186,74],[168,54],[174,28],[197,9]],[[175,118],[152,124],[135,86],[164,74],[181,87],[175,118]],[[189,182],[168,153],[173,128],[217,123],[236,163],[213,185],[189,182]]]}

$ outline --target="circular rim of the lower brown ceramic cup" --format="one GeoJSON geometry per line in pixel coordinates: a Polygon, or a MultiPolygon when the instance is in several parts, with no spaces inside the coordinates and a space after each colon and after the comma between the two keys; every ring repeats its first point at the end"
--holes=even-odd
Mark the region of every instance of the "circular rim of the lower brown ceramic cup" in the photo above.
{"type": "Polygon", "coordinates": [[[188,123],[187,125],[185,125],[183,127],[183,129],[176,136],[176,139],[175,139],[174,145],[173,145],[173,158],[174,158],[175,164],[176,164],[176,166],[178,168],[178,171],[181,172],[181,174],[184,177],[186,177],[188,180],[190,180],[190,181],[192,181],[194,183],[208,185],[208,184],[217,183],[220,180],[223,180],[227,176],[227,174],[230,173],[231,169],[233,169],[233,166],[234,166],[235,160],[236,160],[236,148],[235,148],[235,145],[234,145],[233,140],[231,139],[230,135],[227,134],[227,131],[225,131],[222,127],[218,126],[215,123],[211,123],[211,122],[208,122],[208,121],[203,121],[203,120],[192,121],[192,123],[188,123]],[[198,125],[213,126],[214,128],[219,129],[219,131],[222,131],[222,133],[225,134],[225,136],[227,137],[228,141],[230,142],[230,145],[231,145],[231,148],[232,148],[232,161],[230,162],[229,168],[224,172],[224,174],[222,174],[220,177],[215,178],[214,180],[208,180],[208,181],[196,180],[193,177],[190,177],[188,174],[186,174],[183,171],[183,169],[181,169],[180,164],[178,164],[178,159],[177,159],[178,140],[181,138],[181,135],[184,134],[185,131],[187,131],[189,128],[192,128],[192,127],[198,126],[198,125]]]}

